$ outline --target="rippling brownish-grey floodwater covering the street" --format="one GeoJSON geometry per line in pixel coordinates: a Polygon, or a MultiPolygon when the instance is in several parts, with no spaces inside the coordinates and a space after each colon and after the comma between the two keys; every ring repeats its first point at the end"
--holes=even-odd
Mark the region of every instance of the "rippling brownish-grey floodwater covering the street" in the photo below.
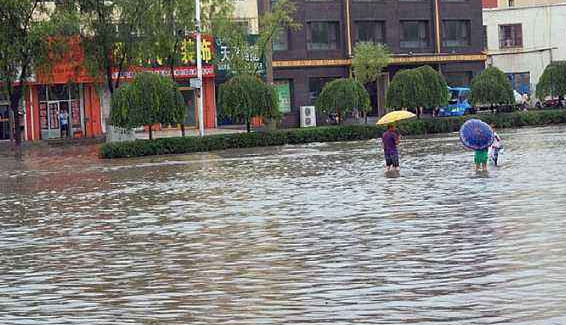
{"type": "Polygon", "coordinates": [[[566,129],[0,171],[1,324],[566,324],[566,129]]]}

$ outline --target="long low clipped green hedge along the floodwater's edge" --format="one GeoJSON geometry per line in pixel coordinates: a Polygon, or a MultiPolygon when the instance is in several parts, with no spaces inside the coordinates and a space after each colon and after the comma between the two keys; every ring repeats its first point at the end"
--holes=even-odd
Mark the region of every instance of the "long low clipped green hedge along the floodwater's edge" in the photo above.
{"type": "MultiPolygon", "coordinates": [[[[469,118],[480,118],[497,128],[518,128],[566,123],[566,110],[529,111],[509,114],[412,120],[399,124],[404,135],[456,132],[469,118]]],[[[280,146],[312,142],[367,140],[381,136],[384,128],[373,125],[328,126],[272,132],[211,135],[203,138],[161,138],[102,145],[102,158],[126,158],[204,152],[234,148],[280,146]]]]}

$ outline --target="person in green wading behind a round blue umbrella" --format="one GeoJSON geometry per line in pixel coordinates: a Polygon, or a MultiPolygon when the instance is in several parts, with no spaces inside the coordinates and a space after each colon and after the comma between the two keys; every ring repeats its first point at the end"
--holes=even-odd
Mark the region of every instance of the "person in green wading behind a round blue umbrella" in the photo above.
{"type": "Polygon", "coordinates": [[[467,148],[475,151],[476,171],[487,171],[488,150],[495,139],[492,128],[485,122],[471,119],[460,128],[460,140],[467,148]]]}

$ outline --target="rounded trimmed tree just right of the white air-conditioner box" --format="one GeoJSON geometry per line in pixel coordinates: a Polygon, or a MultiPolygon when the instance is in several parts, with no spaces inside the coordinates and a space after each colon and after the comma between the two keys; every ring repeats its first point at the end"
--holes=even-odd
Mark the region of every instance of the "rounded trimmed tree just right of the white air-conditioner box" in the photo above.
{"type": "Polygon", "coordinates": [[[345,114],[371,109],[370,98],[365,87],[355,79],[336,79],[327,83],[316,99],[316,109],[326,114],[338,115],[342,123],[345,114]]]}

